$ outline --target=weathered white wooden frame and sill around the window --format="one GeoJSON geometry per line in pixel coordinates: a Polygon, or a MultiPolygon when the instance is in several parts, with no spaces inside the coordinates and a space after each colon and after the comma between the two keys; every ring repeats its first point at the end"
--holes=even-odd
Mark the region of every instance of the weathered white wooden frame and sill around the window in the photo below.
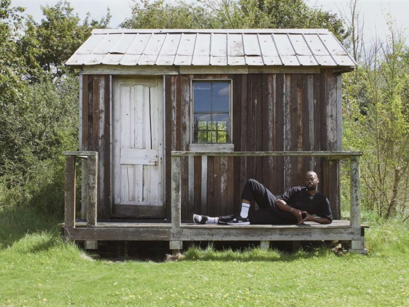
{"type": "MultiPolygon", "coordinates": [[[[227,151],[234,150],[233,144],[233,79],[211,79],[211,78],[192,78],[190,79],[190,148],[193,151],[216,151],[224,149],[227,151]],[[229,82],[229,122],[230,122],[230,140],[229,143],[193,143],[194,130],[194,101],[193,101],[193,82],[229,82]],[[213,148],[213,149],[212,149],[213,148]],[[207,149],[207,150],[204,150],[207,149]]],[[[223,150],[223,151],[224,151],[223,150]]]]}

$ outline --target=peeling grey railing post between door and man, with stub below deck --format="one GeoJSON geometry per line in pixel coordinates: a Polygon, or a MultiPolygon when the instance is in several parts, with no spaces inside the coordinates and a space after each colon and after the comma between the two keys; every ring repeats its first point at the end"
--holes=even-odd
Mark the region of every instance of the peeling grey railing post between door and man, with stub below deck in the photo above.
{"type": "MultiPolygon", "coordinates": [[[[171,218],[172,232],[180,230],[180,157],[172,156],[171,164],[171,218]]],[[[172,253],[183,248],[182,241],[173,241],[169,243],[172,253]]]]}

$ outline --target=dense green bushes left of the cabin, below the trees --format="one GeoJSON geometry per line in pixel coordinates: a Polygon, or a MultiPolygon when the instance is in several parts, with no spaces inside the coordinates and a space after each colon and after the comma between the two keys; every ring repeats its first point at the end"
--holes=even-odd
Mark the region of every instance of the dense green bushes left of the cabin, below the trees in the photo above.
{"type": "Polygon", "coordinates": [[[18,120],[1,134],[0,201],[7,205],[34,205],[62,212],[64,199],[63,150],[78,148],[78,78],[56,83],[44,79],[27,85],[25,103],[14,105],[18,120]],[[7,144],[7,146],[6,146],[7,144]]]}

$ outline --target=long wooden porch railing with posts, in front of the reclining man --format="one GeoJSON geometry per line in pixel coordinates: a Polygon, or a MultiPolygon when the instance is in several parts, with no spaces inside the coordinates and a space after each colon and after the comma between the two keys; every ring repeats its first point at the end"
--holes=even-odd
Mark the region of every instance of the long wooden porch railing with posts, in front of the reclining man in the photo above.
{"type": "MultiPolygon", "coordinates": [[[[328,160],[350,159],[351,161],[351,216],[350,226],[359,228],[360,214],[360,175],[359,157],[361,151],[237,151],[204,152],[172,151],[171,165],[171,217],[172,230],[180,229],[180,157],[183,156],[230,156],[230,157],[327,157],[328,160]]],[[[177,244],[175,244],[177,245],[177,244]]],[[[352,249],[359,249],[360,242],[352,241],[352,249]]]]}

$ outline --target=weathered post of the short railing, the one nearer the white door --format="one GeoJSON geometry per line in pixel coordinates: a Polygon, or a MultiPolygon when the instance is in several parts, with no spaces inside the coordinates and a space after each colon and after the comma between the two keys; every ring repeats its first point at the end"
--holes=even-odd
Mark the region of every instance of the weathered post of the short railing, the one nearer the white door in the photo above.
{"type": "Polygon", "coordinates": [[[86,199],[87,199],[87,214],[86,225],[93,227],[97,225],[97,176],[98,176],[98,154],[88,156],[86,159],[86,199]]]}

